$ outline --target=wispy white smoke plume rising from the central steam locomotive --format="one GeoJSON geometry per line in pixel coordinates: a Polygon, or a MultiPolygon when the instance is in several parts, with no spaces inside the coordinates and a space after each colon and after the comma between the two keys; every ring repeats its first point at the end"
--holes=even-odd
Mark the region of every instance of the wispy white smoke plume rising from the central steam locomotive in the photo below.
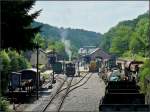
{"type": "Polygon", "coordinates": [[[65,51],[69,56],[69,61],[71,61],[71,47],[70,47],[70,40],[67,40],[67,35],[68,35],[68,30],[67,29],[60,29],[60,35],[61,35],[61,41],[64,43],[65,45],[65,51]]]}

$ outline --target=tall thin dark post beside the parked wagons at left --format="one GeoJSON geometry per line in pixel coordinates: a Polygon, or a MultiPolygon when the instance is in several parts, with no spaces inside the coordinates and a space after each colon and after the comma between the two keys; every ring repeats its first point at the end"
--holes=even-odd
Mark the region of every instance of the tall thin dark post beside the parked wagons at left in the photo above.
{"type": "Polygon", "coordinates": [[[39,45],[38,45],[38,43],[36,43],[36,51],[37,51],[36,96],[37,96],[37,100],[38,100],[39,99],[39,94],[38,94],[38,90],[39,90],[39,67],[38,67],[38,65],[39,65],[39,45]]]}

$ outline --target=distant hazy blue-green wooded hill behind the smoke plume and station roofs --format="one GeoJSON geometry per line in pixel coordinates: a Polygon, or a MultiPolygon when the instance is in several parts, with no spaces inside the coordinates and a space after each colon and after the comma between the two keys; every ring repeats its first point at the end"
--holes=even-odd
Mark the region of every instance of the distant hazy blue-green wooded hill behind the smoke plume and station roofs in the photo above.
{"type": "Polygon", "coordinates": [[[32,25],[33,27],[42,25],[41,35],[43,37],[51,40],[68,39],[71,42],[70,44],[75,48],[80,48],[82,46],[99,46],[101,38],[103,37],[100,33],[83,29],[58,28],[40,22],[33,22],[32,25]]]}

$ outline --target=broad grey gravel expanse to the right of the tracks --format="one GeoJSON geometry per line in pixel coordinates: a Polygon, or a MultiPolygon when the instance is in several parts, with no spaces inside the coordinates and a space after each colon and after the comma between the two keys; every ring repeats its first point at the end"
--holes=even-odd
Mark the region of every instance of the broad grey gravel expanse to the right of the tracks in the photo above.
{"type": "Polygon", "coordinates": [[[61,111],[99,111],[99,101],[104,96],[105,84],[97,73],[89,81],[73,90],[62,106],[61,111]]]}

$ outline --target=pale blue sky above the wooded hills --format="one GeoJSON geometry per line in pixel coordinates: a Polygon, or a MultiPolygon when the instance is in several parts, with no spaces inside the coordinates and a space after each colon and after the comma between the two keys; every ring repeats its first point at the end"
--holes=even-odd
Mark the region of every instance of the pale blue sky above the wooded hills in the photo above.
{"type": "Polygon", "coordinates": [[[148,1],[36,1],[29,13],[42,9],[36,21],[52,26],[106,33],[123,20],[149,9],[148,1]]]}

